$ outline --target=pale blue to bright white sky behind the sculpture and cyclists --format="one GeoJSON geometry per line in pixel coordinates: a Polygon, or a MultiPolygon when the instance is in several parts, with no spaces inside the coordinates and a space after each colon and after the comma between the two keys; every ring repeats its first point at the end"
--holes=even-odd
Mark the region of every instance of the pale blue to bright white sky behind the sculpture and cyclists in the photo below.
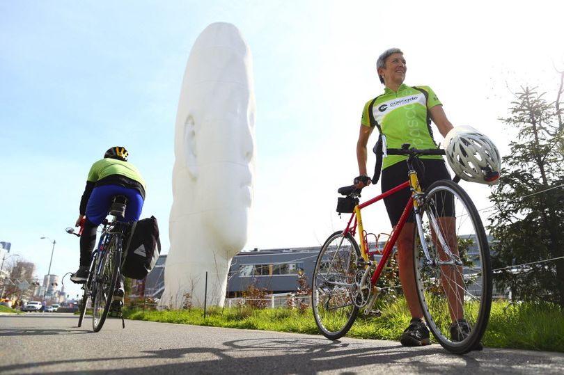
{"type": "MultiPolygon", "coordinates": [[[[157,218],[167,253],[182,76],[199,33],[230,22],[251,49],[257,103],[244,249],[321,245],[346,224],[336,190],[358,174],[361,111],[382,93],[382,51],[402,49],[405,83],[430,86],[453,125],[475,127],[506,154],[515,129],[499,118],[513,95],[538,86],[556,98],[562,14],[564,3],[545,0],[1,1],[0,241],[34,262],[40,280],[53,241],[51,273],[76,271],[79,241],[65,228],[91,164],[125,145],[148,184],[141,216],[157,218]]],[[[489,187],[461,185],[489,207],[489,187]]],[[[383,204],[363,219],[370,231],[390,230],[383,204]]]]}

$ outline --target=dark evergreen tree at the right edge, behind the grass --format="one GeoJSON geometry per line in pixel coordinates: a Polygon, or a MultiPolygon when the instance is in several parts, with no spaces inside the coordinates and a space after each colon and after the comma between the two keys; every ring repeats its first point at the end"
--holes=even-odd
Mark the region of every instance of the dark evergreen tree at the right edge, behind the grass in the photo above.
{"type": "Polygon", "coordinates": [[[515,298],[551,301],[564,309],[564,152],[561,93],[555,102],[523,88],[501,120],[518,130],[503,157],[501,177],[489,197],[496,207],[489,217],[494,237],[494,282],[515,298]],[[547,261],[550,260],[550,261],[547,261]]]}

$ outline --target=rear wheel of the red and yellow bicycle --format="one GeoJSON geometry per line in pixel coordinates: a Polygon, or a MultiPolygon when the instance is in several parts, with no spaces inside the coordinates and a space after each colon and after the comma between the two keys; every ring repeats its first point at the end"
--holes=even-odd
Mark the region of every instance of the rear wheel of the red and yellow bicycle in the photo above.
{"type": "Polygon", "coordinates": [[[325,241],[315,262],[311,283],[313,317],[322,335],[329,340],[346,335],[357,319],[359,308],[352,302],[352,285],[360,269],[360,257],[354,237],[350,233],[343,236],[343,232],[338,231],[325,241]]]}

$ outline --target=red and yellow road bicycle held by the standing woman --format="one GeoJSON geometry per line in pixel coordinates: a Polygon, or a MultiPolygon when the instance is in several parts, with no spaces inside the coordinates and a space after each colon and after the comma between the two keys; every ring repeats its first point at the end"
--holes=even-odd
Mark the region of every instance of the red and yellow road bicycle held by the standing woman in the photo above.
{"type": "Polygon", "coordinates": [[[373,310],[377,282],[411,212],[415,217],[414,273],[418,299],[434,338],[453,353],[467,353],[480,342],[492,305],[492,266],[485,230],[468,194],[442,179],[422,191],[414,163],[444,150],[416,150],[403,145],[388,154],[407,155],[406,182],[359,204],[354,185],[338,190],[338,211],[351,213],[344,230],[331,234],[320,250],[312,281],[312,306],[320,332],[337,340],[350,330],[357,314],[373,310]],[[398,225],[382,250],[363,229],[361,209],[409,187],[412,191],[398,225]],[[359,233],[360,246],[355,240],[359,233]]]}

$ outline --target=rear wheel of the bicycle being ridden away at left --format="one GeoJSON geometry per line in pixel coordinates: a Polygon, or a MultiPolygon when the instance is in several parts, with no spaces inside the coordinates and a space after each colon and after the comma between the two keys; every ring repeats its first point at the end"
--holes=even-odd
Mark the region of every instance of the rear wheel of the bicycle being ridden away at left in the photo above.
{"type": "Polygon", "coordinates": [[[104,326],[104,321],[108,316],[113,297],[113,289],[116,287],[119,274],[119,257],[121,248],[121,237],[114,234],[109,240],[107,248],[104,248],[104,254],[97,269],[97,277],[94,280],[95,294],[93,296],[92,310],[92,328],[94,332],[98,332],[104,326]]]}

